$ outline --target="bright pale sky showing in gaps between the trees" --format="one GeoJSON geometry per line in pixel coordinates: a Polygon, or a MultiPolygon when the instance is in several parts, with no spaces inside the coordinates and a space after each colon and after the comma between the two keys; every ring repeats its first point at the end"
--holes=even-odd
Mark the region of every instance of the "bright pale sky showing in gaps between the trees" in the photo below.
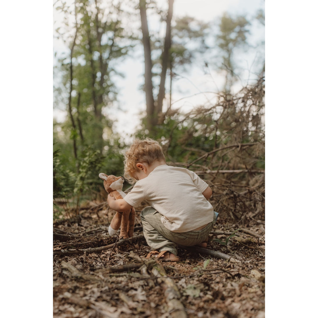
{"type": "MultiPolygon", "coordinates": [[[[157,2],[163,7],[167,5],[166,0],[157,2]]],[[[192,0],[175,0],[173,15],[174,17],[189,15],[204,22],[217,23],[217,18],[221,17],[224,12],[229,12],[233,16],[244,14],[248,19],[254,16],[259,9],[264,10],[264,0],[197,0],[195,2],[192,0]]],[[[61,16],[55,13],[54,19],[57,21],[55,26],[58,26],[61,16]]],[[[154,25],[156,22],[151,19],[149,21],[150,28],[152,26],[153,29],[157,30],[158,26],[154,25]]],[[[165,30],[165,25],[162,29],[165,30]]],[[[259,25],[258,28],[252,30],[251,37],[261,41],[264,40],[264,33],[264,28],[259,25]]],[[[67,52],[62,41],[55,40],[53,49],[58,53],[67,52]]],[[[257,57],[262,58],[262,55],[264,55],[264,52],[258,52],[257,57]]],[[[255,59],[255,52],[250,56],[245,54],[245,59],[246,68],[250,68],[255,59]]],[[[213,63],[213,61],[209,62],[213,63]]],[[[174,104],[172,108],[180,108],[182,111],[188,112],[200,103],[206,103],[207,100],[214,96],[213,93],[200,94],[200,92],[217,92],[222,88],[224,76],[213,70],[210,70],[211,75],[207,76],[203,72],[202,65],[203,61],[199,60],[198,57],[197,60],[194,60],[190,72],[184,73],[184,78],[173,82],[172,102],[174,104]],[[189,97],[192,95],[195,96],[189,97]],[[177,100],[180,101],[176,102],[177,100]]],[[[107,107],[105,114],[114,121],[113,130],[119,132],[126,141],[129,141],[130,135],[140,123],[141,112],[146,108],[145,94],[140,90],[140,86],[144,83],[142,46],[136,47],[134,52],[130,53],[130,57],[125,58],[124,62],[116,66],[116,69],[124,73],[125,78],[116,77],[115,84],[119,89],[117,102],[114,103],[113,107],[107,107]]],[[[167,81],[169,81],[169,78],[167,81]]],[[[239,90],[242,84],[246,84],[246,82],[247,80],[244,83],[237,83],[234,86],[234,90],[239,90]]],[[[166,93],[167,98],[169,98],[169,91],[166,93]]],[[[166,107],[164,102],[163,111],[166,107]]],[[[64,105],[60,105],[59,109],[54,110],[54,117],[58,121],[62,121],[65,118],[67,114],[65,109],[64,105]]]]}

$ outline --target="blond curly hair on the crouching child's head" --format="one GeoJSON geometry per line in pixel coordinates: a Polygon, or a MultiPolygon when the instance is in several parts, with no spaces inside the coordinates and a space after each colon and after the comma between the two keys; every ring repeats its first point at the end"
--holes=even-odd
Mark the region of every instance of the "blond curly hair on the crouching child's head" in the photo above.
{"type": "Polygon", "coordinates": [[[133,144],[125,153],[124,178],[128,183],[134,184],[137,180],[132,176],[132,174],[138,171],[136,164],[140,162],[150,165],[156,160],[166,161],[159,142],[149,137],[135,139],[133,144]]]}

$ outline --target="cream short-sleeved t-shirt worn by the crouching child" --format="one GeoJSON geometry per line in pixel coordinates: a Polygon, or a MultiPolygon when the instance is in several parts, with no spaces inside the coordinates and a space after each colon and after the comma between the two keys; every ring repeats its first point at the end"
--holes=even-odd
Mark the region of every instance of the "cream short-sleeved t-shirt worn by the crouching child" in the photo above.
{"type": "Polygon", "coordinates": [[[207,187],[193,171],[164,164],[138,180],[124,200],[134,207],[148,200],[168,230],[182,233],[213,221],[213,206],[202,194],[207,187]]]}

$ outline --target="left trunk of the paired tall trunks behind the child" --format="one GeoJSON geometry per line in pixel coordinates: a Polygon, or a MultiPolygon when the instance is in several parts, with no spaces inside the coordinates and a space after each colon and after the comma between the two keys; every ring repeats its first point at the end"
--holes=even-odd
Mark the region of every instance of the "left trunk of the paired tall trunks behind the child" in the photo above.
{"type": "Polygon", "coordinates": [[[141,18],[142,29],[142,43],[145,56],[145,93],[146,93],[146,109],[147,109],[147,128],[152,130],[155,125],[155,101],[153,96],[152,86],[152,60],[151,60],[151,48],[150,48],[150,36],[148,30],[147,14],[146,14],[146,0],[139,0],[139,10],[141,18]]]}

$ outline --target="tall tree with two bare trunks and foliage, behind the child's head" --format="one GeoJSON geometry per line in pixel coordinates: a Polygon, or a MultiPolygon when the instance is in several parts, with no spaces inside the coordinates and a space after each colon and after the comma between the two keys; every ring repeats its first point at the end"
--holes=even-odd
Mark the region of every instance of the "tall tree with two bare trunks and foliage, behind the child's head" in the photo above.
{"type": "Polygon", "coordinates": [[[156,14],[159,13],[161,21],[165,21],[165,36],[161,38],[159,35],[152,34],[150,37],[147,9],[150,9],[150,4],[153,3],[139,0],[145,61],[146,128],[151,134],[155,133],[156,125],[162,124],[164,120],[162,106],[167,90],[167,71],[170,70],[170,107],[172,79],[176,76],[175,72],[180,70],[179,66],[190,64],[195,56],[195,52],[200,52],[200,50],[207,48],[204,38],[206,36],[205,30],[209,28],[209,24],[188,16],[176,18],[173,21],[174,1],[168,0],[167,3],[168,9],[165,12],[161,11],[158,7],[156,8],[156,14]],[[198,39],[200,43],[194,45],[198,39]],[[189,42],[191,42],[191,45],[189,45],[189,42]],[[160,52],[160,56],[158,56],[158,52],[160,52]],[[155,92],[158,92],[157,95],[155,92]]]}

